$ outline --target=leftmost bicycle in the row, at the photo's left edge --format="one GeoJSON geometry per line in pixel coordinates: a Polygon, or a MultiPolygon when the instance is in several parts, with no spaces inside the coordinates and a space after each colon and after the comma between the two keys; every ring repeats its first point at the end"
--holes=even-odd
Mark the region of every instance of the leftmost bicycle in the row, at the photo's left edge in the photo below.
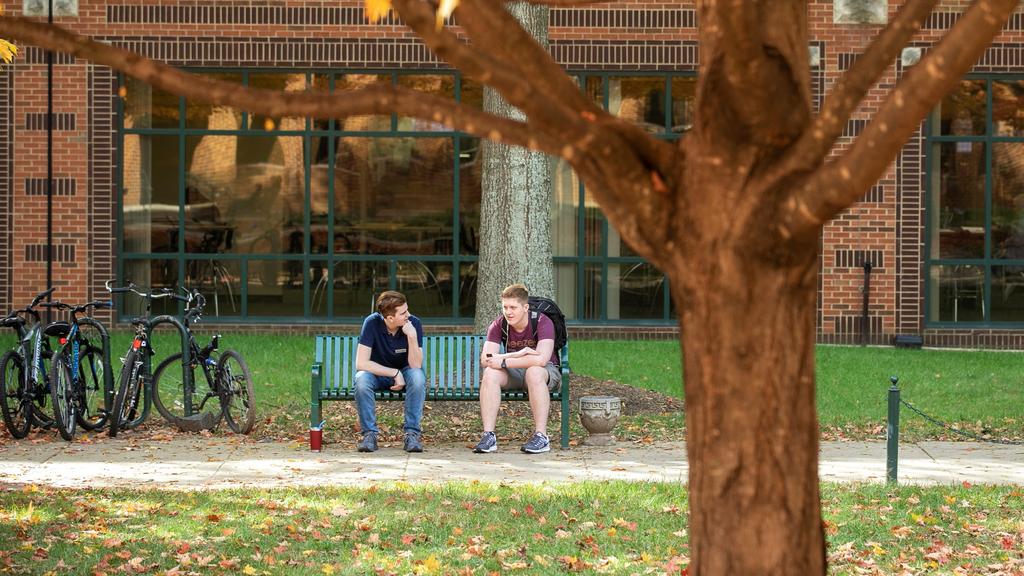
{"type": "Polygon", "coordinates": [[[0,327],[17,333],[14,349],[0,358],[0,412],[7,431],[16,439],[29,436],[33,425],[40,428],[53,425],[46,410],[49,375],[45,365],[53,353],[49,340],[43,337],[45,329],[35,308],[54,290],[50,288],[36,294],[31,304],[0,320],[0,327]],[[29,370],[26,370],[26,359],[31,359],[29,370]]]}

